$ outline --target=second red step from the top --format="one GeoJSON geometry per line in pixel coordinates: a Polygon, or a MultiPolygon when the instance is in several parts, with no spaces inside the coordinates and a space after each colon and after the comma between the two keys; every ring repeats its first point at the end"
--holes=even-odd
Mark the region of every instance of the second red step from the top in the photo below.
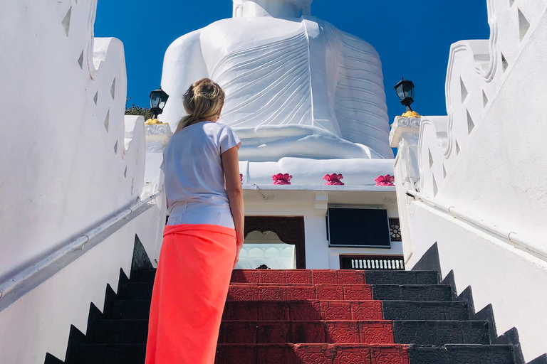
{"type": "Polygon", "coordinates": [[[373,291],[367,284],[249,284],[232,283],[228,291],[231,300],[372,300],[373,291]]]}

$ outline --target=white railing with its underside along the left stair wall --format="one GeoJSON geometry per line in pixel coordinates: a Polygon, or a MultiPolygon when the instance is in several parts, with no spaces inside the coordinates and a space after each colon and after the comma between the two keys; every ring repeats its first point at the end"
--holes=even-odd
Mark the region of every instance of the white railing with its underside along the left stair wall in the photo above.
{"type": "MultiPolygon", "coordinates": [[[[94,246],[100,241],[105,240],[106,237],[112,235],[113,232],[118,231],[123,225],[125,225],[125,223],[118,226],[118,228],[110,232],[108,235],[105,235],[104,233],[106,232],[106,230],[113,227],[113,225],[116,225],[130,217],[136,218],[140,214],[144,213],[145,210],[147,210],[147,208],[145,209],[145,205],[150,203],[152,200],[155,200],[155,198],[157,198],[161,194],[161,190],[152,193],[152,195],[148,196],[144,200],[136,203],[135,205],[132,205],[126,210],[123,210],[123,212],[118,213],[118,215],[115,215],[110,220],[98,225],[97,228],[85,232],[85,234],[78,237],[78,239],[69,242],[67,245],[61,247],[61,249],[56,250],[55,252],[51,253],[51,255],[48,255],[47,257],[41,259],[38,263],[29,265],[24,270],[16,274],[14,277],[11,277],[10,279],[1,283],[0,311],[9,306],[9,304],[19,299],[19,297],[26,294],[26,292],[37,287],[38,284],[45,282],[46,279],[55,274],[55,272],[58,272],[58,270],[66,267],[67,264],[73,261],[72,259],[68,262],[65,262],[63,261],[63,259],[66,259],[70,255],[77,255],[75,253],[78,252],[78,250],[85,250],[86,245],[89,245],[91,242],[93,242],[94,246]],[[100,241],[95,242],[93,240],[100,241]]],[[[80,254],[83,254],[83,252],[80,252],[80,254]]]]}

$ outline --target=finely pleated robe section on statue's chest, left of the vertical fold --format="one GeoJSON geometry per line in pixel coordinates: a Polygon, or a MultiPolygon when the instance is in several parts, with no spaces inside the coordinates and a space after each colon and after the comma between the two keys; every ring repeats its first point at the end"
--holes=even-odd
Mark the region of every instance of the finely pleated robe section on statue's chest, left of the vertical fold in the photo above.
{"type": "Polygon", "coordinates": [[[226,91],[222,122],[231,127],[312,125],[306,33],[229,53],[212,72],[226,91]]]}

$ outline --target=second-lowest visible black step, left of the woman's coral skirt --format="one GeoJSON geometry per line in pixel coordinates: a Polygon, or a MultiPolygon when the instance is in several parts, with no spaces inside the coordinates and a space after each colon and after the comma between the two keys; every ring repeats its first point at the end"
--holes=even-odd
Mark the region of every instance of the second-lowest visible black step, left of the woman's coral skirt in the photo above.
{"type": "Polygon", "coordinates": [[[92,344],[146,344],[148,320],[95,320],[92,344]]]}

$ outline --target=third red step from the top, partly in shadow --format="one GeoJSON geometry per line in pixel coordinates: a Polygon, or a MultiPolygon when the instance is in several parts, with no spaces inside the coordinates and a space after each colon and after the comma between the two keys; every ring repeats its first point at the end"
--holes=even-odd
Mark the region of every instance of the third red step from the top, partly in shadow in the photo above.
{"type": "Polygon", "coordinates": [[[380,301],[226,301],[222,320],[382,320],[380,301]]]}

